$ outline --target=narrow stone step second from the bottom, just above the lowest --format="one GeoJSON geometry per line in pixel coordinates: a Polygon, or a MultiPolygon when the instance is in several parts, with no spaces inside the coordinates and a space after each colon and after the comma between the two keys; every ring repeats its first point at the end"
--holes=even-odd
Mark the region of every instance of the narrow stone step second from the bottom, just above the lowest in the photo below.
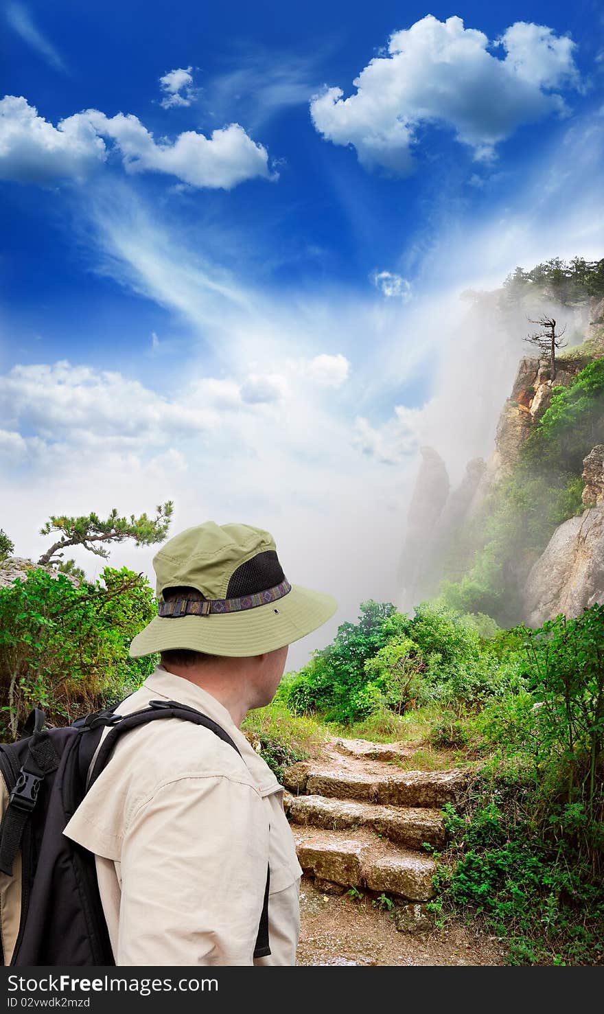
{"type": "Polygon", "coordinates": [[[286,813],[296,824],[310,824],[331,830],[368,827],[376,836],[408,849],[421,849],[424,842],[440,849],[445,827],[440,811],[427,806],[392,807],[360,803],[324,796],[292,796],[284,799],[286,813]]]}

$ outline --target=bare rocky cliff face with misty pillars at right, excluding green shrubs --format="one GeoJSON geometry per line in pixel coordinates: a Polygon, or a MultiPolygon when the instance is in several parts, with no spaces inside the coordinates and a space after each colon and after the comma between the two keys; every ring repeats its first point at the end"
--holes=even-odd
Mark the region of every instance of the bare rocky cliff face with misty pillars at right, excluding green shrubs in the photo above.
{"type": "MultiPolygon", "coordinates": [[[[507,602],[513,601],[510,619],[503,621],[507,625],[522,621],[536,627],[560,612],[573,618],[595,602],[604,602],[604,443],[594,446],[583,461],[586,484],[583,503],[587,510],[560,524],[540,556],[540,550],[530,548],[530,538],[523,540],[522,528],[513,530],[513,512],[501,522],[507,528],[496,528],[495,534],[493,529],[484,528],[490,523],[494,499],[501,506],[501,497],[507,495],[501,493],[501,487],[498,489],[501,481],[514,474],[516,481],[522,483],[515,465],[519,463],[524,442],[550,405],[553,388],[571,385],[589,362],[603,357],[604,300],[601,300],[590,307],[590,323],[583,345],[567,349],[558,356],[553,377],[547,359],[530,356],[521,359],[510,397],[500,415],[494,449],[486,461],[473,458],[468,462],[457,489],[451,491],[440,454],[434,448],[423,448],[423,463],[400,560],[399,608],[407,611],[423,598],[438,594],[445,576],[458,582],[470,574],[484,530],[488,531],[488,552],[493,549],[493,554],[482,558],[478,570],[470,574],[470,584],[473,582],[478,588],[475,594],[468,592],[474,598],[478,596],[478,604],[466,606],[470,610],[489,611],[488,604],[481,604],[483,580],[493,591],[492,601],[498,593],[500,602],[506,596],[507,602]],[[489,493],[494,498],[488,497],[489,493]],[[507,539],[508,556],[497,558],[500,532],[507,539]],[[500,570],[492,571],[489,576],[492,566],[499,566],[500,570]]],[[[594,443],[602,440],[604,416],[591,425],[594,443]]],[[[561,492],[553,481],[552,487],[548,503],[545,477],[543,516],[557,503],[555,498],[561,492]]],[[[514,486],[511,496],[513,491],[514,486]]],[[[539,509],[537,506],[536,510],[539,509]]],[[[498,607],[496,603],[496,617],[498,607]]]]}

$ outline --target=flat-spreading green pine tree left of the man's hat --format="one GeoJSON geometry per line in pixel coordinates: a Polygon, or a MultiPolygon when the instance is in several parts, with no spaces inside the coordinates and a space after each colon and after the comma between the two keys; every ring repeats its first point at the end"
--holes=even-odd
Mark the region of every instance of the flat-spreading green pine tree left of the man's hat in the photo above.
{"type": "Polygon", "coordinates": [[[40,533],[50,535],[51,532],[61,532],[61,538],[53,542],[37,563],[40,566],[58,563],[63,557],[60,551],[68,546],[83,546],[97,557],[106,558],[108,553],[104,546],[109,542],[123,542],[127,538],[133,538],[137,546],[161,542],[167,535],[173,508],[172,501],[166,500],[156,508],[154,518],[146,514],[138,518],[134,514],[130,518],[119,517],[116,508],[104,521],[93,512],[82,517],[53,516],[40,533]]]}

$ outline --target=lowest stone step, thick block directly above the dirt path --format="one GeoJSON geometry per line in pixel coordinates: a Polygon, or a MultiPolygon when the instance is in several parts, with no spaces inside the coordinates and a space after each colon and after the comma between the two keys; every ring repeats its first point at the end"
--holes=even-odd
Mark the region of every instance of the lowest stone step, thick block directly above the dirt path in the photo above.
{"type": "Polygon", "coordinates": [[[376,840],[370,831],[353,832],[291,825],[300,866],[320,886],[335,884],[427,901],[435,894],[434,861],[419,852],[376,840]]]}

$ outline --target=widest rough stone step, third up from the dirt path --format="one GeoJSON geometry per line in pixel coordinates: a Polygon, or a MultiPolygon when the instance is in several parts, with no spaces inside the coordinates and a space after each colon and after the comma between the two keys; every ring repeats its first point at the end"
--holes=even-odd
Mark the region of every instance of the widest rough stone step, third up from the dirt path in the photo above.
{"type": "Polygon", "coordinates": [[[365,775],[344,769],[321,769],[303,762],[286,771],[283,784],[298,795],[351,799],[382,806],[440,808],[456,801],[466,780],[467,773],[457,768],[365,775]]]}

